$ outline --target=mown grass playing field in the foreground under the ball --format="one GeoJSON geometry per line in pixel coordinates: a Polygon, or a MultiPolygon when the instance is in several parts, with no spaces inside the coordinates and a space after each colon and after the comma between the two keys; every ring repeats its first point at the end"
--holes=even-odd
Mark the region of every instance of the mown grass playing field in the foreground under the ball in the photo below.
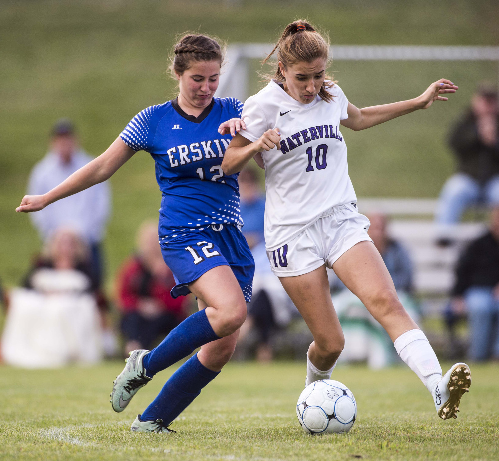
{"type": "MultiPolygon", "coordinates": [[[[169,372],[123,413],[108,402],[122,362],[26,371],[0,367],[2,460],[497,460],[498,365],[472,365],[457,420],[440,420],[428,392],[405,366],[373,372],[339,367],[334,378],[358,402],[348,434],[309,436],[296,420],[304,364],[231,363],[172,428],[130,432],[169,372]]],[[[449,364],[447,364],[449,365],[449,364]]]]}

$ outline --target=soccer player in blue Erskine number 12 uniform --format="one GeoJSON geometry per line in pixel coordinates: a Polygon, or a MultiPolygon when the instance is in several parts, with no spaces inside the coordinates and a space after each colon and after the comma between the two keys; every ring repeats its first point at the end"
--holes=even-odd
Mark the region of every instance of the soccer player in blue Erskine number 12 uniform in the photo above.
{"type": "Polygon", "coordinates": [[[103,154],[48,193],[25,196],[16,209],[41,210],[105,181],[139,150],[154,158],[162,191],[159,239],[177,282],[172,296],[194,293],[199,312],[152,351],[130,353],[114,382],[113,409],[123,411],[156,373],[201,349],[137,416],[132,431],[171,432],[168,425],[231,358],[251,298],[254,263],[240,230],[237,175],[225,175],[221,167],[231,135],[245,128],[243,104],[213,97],[222,61],[216,40],[184,35],[170,66],[178,97],[138,113],[103,154]]]}

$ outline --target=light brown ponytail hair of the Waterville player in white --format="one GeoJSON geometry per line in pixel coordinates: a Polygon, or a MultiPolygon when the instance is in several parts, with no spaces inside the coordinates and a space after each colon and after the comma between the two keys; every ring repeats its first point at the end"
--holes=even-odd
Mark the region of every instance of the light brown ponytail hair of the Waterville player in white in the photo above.
{"type": "MultiPolygon", "coordinates": [[[[306,20],[298,19],[284,29],[274,49],[263,60],[262,64],[274,54],[277,54],[277,60],[282,62],[285,69],[298,62],[311,62],[317,58],[327,60],[329,58],[329,37],[327,35],[323,37],[306,20]]],[[[274,69],[274,74],[266,76],[266,79],[274,79],[281,83],[286,81],[278,64],[274,69]]],[[[326,75],[326,80],[332,80],[332,76],[326,75]]],[[[334,81],[324,81],[319,91],[321,99],[327,102],[332,101],[333,95],[327,90],[333,87],[334,83],[334,81]]]]}

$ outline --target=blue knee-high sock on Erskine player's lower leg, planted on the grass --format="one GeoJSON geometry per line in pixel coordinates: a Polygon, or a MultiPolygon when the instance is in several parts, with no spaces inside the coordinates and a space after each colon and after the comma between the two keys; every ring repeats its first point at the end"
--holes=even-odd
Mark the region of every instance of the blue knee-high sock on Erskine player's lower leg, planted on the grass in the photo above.
{"type": "Polygon", "coordinates": [[[170,377],[140,419],[156,421],[161,418],[168,426],[219,373],[206,368],[198,360],[198,354],[193,355],[170,377]]]}

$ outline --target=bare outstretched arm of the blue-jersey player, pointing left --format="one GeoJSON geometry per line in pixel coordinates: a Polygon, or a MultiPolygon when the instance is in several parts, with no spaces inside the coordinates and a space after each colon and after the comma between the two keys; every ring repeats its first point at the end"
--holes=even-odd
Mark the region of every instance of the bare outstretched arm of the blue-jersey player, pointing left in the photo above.
{"type": "Polygon", "coordinates": [[[52,202],[88,189],[94,184],[109,179],[135,151],[128,147],[121,138],[117,138],[106,151],[75,171],[61,184],[42,195],[25,195],[16,212],[32,212],[45,208],[52,202]]]}

